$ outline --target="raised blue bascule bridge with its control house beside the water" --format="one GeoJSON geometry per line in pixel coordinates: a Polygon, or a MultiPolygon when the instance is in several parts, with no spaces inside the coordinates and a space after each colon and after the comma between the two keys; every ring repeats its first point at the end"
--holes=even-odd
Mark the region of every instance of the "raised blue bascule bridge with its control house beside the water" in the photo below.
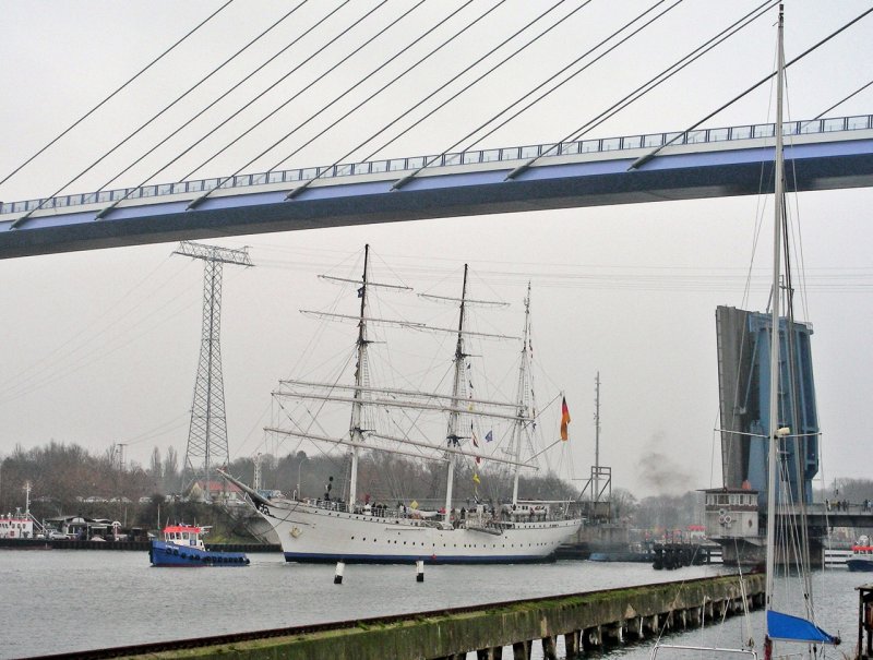
{"type": "MultiPolygon", "coordinates": [[[[764,560],[767,443],[770,410],[770,315],[737,308],[716,310],[722,488],[706,491],[706,535],[722,548],[726,564],[764,560]]],[[[821,430],[812,361],[812,324],[782,317],[778,415],[784,488],[777,513],[780,537],[808,535],[811,561],[821,565],[828,530],[873,527],[870,502],[813,502],[821,430]]]]}

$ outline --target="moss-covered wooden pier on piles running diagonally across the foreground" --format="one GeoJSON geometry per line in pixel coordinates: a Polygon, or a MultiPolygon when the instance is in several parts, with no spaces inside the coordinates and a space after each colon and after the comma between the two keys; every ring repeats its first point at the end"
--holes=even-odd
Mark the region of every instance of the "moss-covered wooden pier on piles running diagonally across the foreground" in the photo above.
{"type": "Polygon", "coordinates": [[[584,657],[605,645],[718,623],[763,601],[764,575],[723,576],[51,658],[462,660],[476,652],[479,660],[528,660],[541,644],[552,660],[561,636],[567,658],[584,657]]]}

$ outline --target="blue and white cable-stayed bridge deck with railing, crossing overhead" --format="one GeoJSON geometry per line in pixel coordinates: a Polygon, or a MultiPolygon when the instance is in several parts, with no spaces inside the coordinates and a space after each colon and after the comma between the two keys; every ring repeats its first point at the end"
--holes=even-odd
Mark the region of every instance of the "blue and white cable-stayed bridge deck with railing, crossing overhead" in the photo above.
{"type": "MultiPolygon", "coordinates": [[[[873,184],[873,115],[786,125],[789,191],[873,184]]],[[[0,259],[426,218],[757,194],[774,124],[347,163],[0,203],[0,259]]]]}

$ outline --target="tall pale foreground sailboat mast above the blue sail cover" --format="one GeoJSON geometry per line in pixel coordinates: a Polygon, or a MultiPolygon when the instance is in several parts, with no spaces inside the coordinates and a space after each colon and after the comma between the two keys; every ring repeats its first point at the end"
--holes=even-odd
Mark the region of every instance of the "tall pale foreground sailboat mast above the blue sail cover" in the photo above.
{"type": "Polygon", "coordinates": [[[776,536],[776,470],[778,469],[779,432],[779,275],[781,259],[782,215],[785,213],[785,154],[782,153],[782,89],[785,85],[785,44],[782,37],[784,14],[779,5],[777,33],[777,75],[776,75],[776,169],[774,181],[774,228],[773,228],[773,316],[770,327],[770,370],[769,370],[769,451],[767,458],[767,560],[766,560],[766,609],[773,609],[775,536],[776,536]]]}

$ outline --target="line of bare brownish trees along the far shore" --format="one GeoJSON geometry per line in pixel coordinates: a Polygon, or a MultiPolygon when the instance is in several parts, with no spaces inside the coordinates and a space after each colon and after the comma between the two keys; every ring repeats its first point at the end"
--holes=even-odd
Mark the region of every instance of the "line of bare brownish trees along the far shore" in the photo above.
{"type": "MultiPolygon", "coordinates": [[[[51,441],[24,449],[16,445],[0,460],[0,512],[24,507],[24,487],[31,485],[31,511],[37,518],[82,514],[93,517],[145,521],[157,519],[160,506],[165,519],[170,503],[182,503],[193,476],[180,465],[178,452],[168,447],[152,451],[148,465],[121,464],[117,446],[92,453],[77,444],[51,441]],[[166,501],[166,502],[165,502],[166,501]],[[162,504],[163,503],[163,504],[162,504]]],[[[255,481],[260,464],[260,485],[285,495],[347,500],[348,463],[340,454],[308,455],[294,452],[285,456],[263,454],[232,460],[229,472],[243,482],[255,481]]],[[[512,499],[512,475],[506,468],[489,468],[458,463],[455,466],[455,502],[499,504],[512,499]]],[[[576,485],[554,475],[519,476],[522,500],[575,500],[576,485]]],[[[445,501],[445,466],[384,453],[361,456],[358,469],[358,497],[371,503],[411,504],[439,508],[445,501]]],[[[617,523],[651,529],[682,529],[703,523],[703,494],[689,491],[637,499],[630,490],[613,488],[611,516],[617,523]]],[[[815,500],[829,499],[860,503],[873,500],[873,481],[839,479],[816,491],[815,500]]]]}

